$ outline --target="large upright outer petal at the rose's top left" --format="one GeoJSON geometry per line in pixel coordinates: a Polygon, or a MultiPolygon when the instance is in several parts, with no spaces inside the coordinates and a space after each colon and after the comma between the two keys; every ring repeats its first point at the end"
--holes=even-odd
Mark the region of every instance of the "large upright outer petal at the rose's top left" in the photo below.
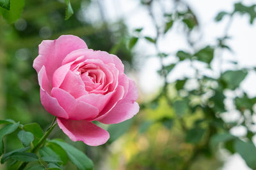
{"type": "Polygon", "coordinates": [[[55,40],[45,40],[39,45],[39,55],[36,57],[33,63],[33,67],[36,72],[40,71],[42,66],[45,66],[47,76],[52,81],[52,74],[61,66],[62,60],[68,53],[87,48],[83,39],[77,36],[65,35],[55,40]]]}

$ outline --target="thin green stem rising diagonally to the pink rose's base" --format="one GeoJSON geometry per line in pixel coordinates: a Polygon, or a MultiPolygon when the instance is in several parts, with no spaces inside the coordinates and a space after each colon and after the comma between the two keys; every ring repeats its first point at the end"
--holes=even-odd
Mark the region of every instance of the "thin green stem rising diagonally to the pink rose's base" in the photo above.
{"type": "MultiPolygon", "coordinates": [[[[54,117],[54,119],[52,120],[52,124],[47,129],[47,131],[45,132],[44,136],[42,136],[42,138],[38,141],[36,146],[34,148],[32,148],[31,153],[36,153],[38,151],[38,149],[42,146],[42,144],[45,142],[45,140],[47,139],[49,134],[51,134],[52,130],[57,125],[57,123],[55,123],[55,122],[56,122],[56,117],[54,117]]],[[[24,169],[27,166],[27,164],[28,164],[28,162],[22,162],[22,164],[20,164],[18,170],[24,169]]]]}

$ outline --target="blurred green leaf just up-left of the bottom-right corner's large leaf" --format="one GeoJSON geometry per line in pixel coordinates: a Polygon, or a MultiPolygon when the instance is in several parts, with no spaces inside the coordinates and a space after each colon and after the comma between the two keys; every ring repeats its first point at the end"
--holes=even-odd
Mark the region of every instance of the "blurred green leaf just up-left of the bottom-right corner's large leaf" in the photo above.
{"type": "Polygon", "coordinates": [[[230,133],[215,134],[211,137],[210,145],[212,148],[215,148],[219,143],[225,143],[232,139],[236,139],[236,136],[233,136],[230,133]]]}

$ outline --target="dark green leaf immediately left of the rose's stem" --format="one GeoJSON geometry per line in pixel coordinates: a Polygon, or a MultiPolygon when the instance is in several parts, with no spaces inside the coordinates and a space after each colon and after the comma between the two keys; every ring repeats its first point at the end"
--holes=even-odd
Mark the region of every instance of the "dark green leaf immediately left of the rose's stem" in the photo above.
{"type": "Polygon", "coordinates": [[[27,132],[31,132],[34,135],[35,140],[33,141],[33,144],[36,145],[40,138],[44,136],[44,132],[40,125],[36,123],[26,124],[23,126],[23,129],[27,132]]]}

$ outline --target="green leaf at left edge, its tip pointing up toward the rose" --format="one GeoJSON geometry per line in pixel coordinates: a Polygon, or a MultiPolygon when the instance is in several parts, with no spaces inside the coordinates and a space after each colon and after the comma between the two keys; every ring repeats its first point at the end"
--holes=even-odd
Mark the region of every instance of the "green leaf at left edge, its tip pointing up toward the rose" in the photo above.
{"type": "Polygon", "coordinates": [[[4,126],[2,129],[0,129],[0,155],[2,155],[4,152],[4,143],[3,143],[4,136],[14,132],[19,127],[19,125],[20,125],[19,122],[15,124],[8,124],[4,126]]]}

